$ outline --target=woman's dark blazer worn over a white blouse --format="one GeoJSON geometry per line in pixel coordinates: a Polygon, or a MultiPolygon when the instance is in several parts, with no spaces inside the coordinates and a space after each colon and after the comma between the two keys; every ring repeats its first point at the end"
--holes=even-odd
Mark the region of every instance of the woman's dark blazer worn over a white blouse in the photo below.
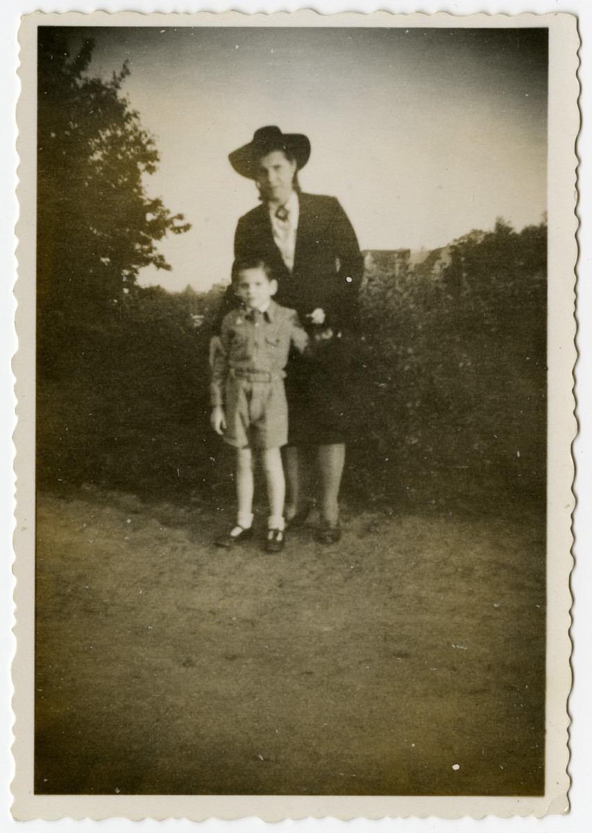
{"type": "MultiPolygon", "coordinates": [[[[327,325],[355,329],[364,272],[356,232],[336,197],[299,194],[298,199],[300,213],[291,272],[276,247],[265,204],[238,221],[235,257],[261,257],[279,284],[276,301],[295,309],[303,322],[306,315],[321,307],[326,312],[327,325]]],[[[231,289],[227,295],[230,294],[231,289]]],[[[226,302],[231,302],[230,297],[226,302]]]]}

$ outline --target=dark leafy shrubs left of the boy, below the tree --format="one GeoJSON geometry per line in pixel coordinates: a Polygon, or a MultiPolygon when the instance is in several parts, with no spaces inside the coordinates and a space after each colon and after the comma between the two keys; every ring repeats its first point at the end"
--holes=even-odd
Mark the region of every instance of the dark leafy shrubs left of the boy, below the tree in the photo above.
{"type": "MultiPolygon", "coordinates": [[[[197,308],[207,312],[216,294],[197,308]]],[[[133,287],[109,316],[71,332],[59,367],[38,377],[41,482],[165,492],[204,482],[213,456],[208,345],[187,299],[159,287],[133,287]]]]}

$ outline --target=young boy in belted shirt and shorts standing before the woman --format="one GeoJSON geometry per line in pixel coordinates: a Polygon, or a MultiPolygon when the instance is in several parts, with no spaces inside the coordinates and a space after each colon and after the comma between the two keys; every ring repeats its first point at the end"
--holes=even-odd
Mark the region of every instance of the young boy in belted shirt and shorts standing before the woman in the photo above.
{"type": "Polygon", "coordinates": [[[277,281],[260,259],[235,262],[232,284],[241,307],[222,320],[211,351],[211,426],[236,447],[236,524],[216,540],[234,546],[252,535],[253,451],[261,451],[270,504],[266,551],[283,547],[286,484],[281,446],[288,439],[284,368],[307,336],[296,312],[273,301],[277,281]]]}

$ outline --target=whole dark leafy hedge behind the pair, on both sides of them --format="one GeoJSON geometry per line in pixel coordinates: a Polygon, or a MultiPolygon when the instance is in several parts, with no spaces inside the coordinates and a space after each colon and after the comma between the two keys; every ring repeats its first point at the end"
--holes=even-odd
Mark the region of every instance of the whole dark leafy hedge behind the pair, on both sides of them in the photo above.
{"type": "MultiPolygon", "coordinates": [[[[540,499],[545,226],[470,232],[441,272],[412,271],[407,255],[367,258],[344,495],[540,499]]],[[[204,497],[231,487],[231,455],[209,426],[208,323],[221,293],[132,287],[91,326],[71,323],[39,377],[42,482],[204,497]]]]}

